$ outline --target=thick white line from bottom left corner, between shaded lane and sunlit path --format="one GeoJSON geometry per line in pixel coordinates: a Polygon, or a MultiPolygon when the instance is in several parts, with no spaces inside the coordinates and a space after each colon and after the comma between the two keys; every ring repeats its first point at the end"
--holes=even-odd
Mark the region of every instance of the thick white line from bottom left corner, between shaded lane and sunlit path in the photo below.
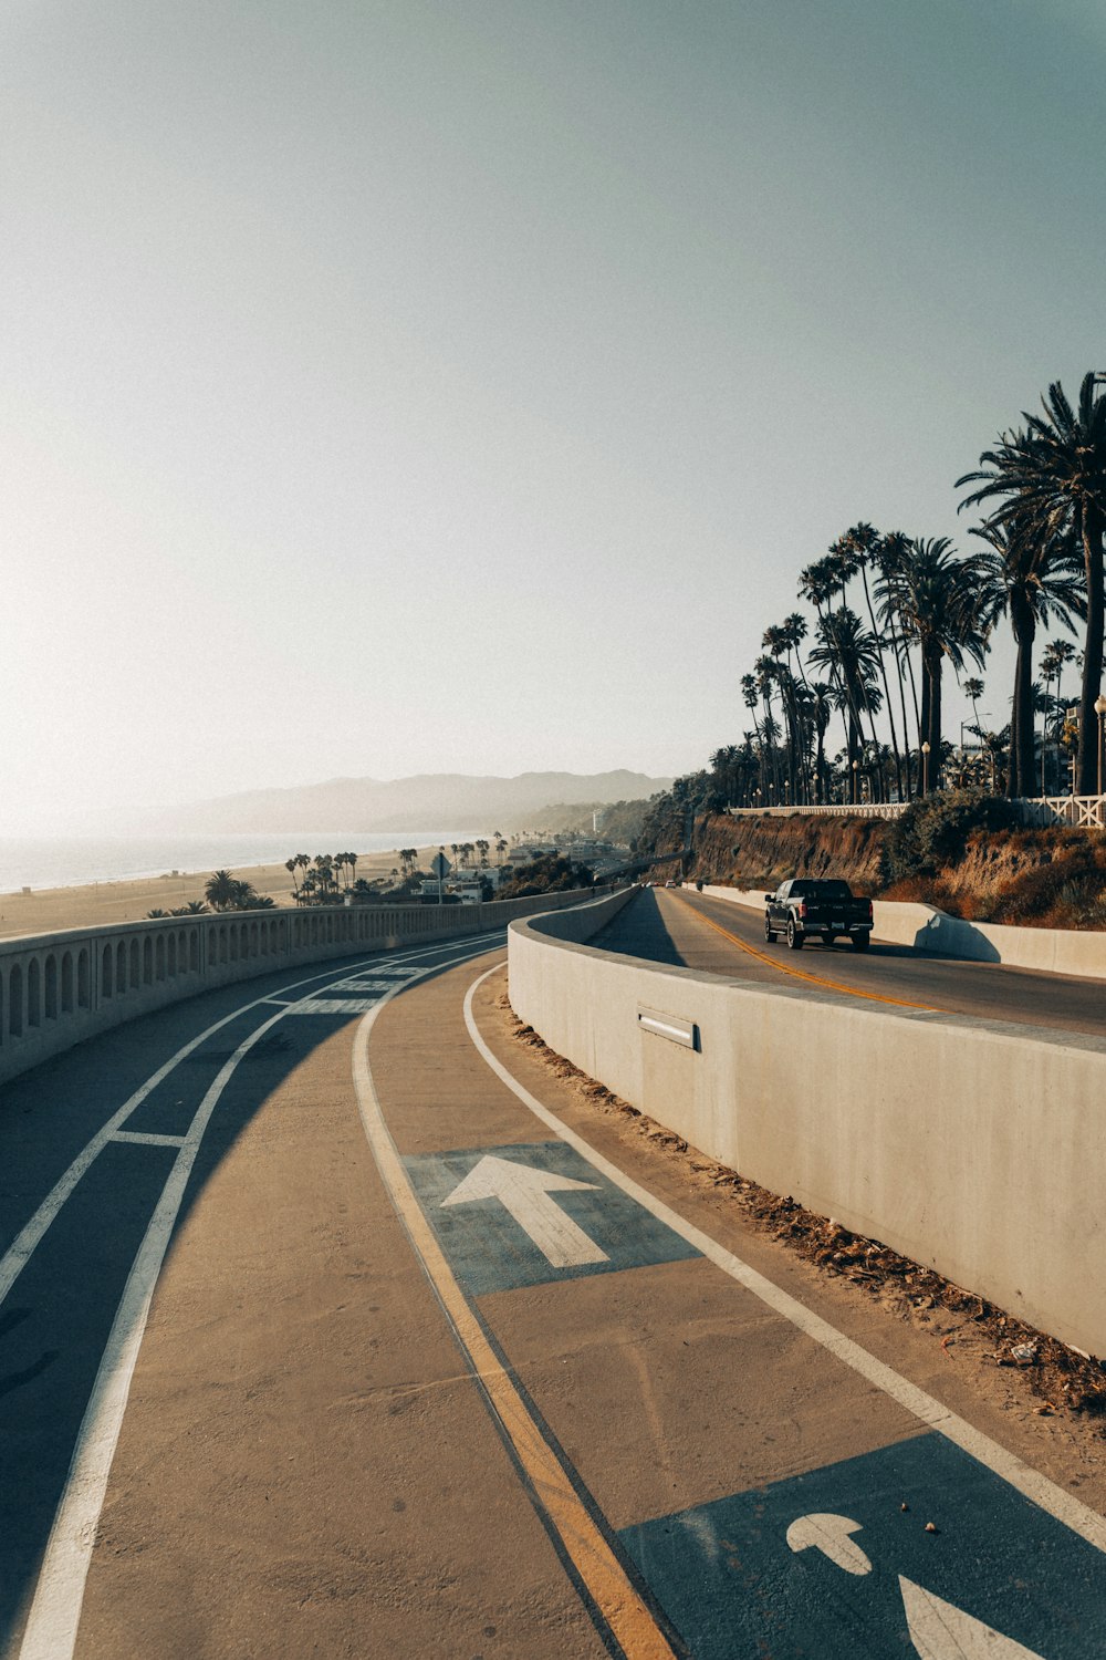
{"type": "MultiPolygon", "coordinates": [[[[489,950],[486,943],[481,943],[479,953],[474,953],[471,940],[466,940],[464,946],[466,951],[458,961],[489,950]]],[[[441,946],[423,946],[423,950],[441,950],[441,946]]],[[[453,959],[449,959],[449,966],[451,963],[453,959]]],[[[438,966],[438,963],[428,964],[426,973],[433,973],[438,966]]],[[[318,978],[312,976],[312,979],[318,978]]],[[[401,986],[395,989],[400,991],[401,986]]],[[[310,996],[310,991],[305,993],[305,998],[310,996]]],[[[123,1414],[126,1413],[131,1378],[149,1318],[149,1305],[184,1199],[184,1189],[192,1172],[204,1130],[239,1061],[287,1013],[287,1009],[279,1009],[275,1014],[270,1014],[249,1038],[242,1039],[230,1059],[222,1064],[196,1109],[187,1135],[172,1162],[172,1170],[163,1187],[158,1207],[131,1265],[123,1298],[111,1323],[108,1345],[96,1371],[96,1383],[93,1384],[85,1418],[81,1419],[65,1491],[43,1552],[35,1600],[32,1602],[27,1627],[23,1628],[18,1660],[71,1660],[111,1461],[119,1441],[119,1429],[123,1428],[123,1414]]],[[[219,1021],[219,1024],[222,1026],[226,1021],[219,1021]]]]}

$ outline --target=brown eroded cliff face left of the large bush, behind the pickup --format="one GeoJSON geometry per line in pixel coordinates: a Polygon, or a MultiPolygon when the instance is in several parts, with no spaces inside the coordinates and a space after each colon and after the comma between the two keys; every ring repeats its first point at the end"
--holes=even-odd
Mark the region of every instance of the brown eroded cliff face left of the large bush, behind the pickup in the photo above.
{"type": "Polygon", "coordinates": [[[791,876],[844,876],[859,893],[882,886],[882,818],[731,818],[710,813],[695,823],[693,881],[776,888],[791,876]]]}

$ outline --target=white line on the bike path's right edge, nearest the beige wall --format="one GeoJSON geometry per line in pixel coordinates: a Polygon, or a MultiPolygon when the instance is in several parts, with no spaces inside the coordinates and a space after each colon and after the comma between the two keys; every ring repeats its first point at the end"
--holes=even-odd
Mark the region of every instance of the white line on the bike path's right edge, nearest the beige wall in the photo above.
{"type": "Polygon", "coordinates": [[[529,1089],[526,1089],[524,1084],[519,1084],[517,1077],[512,1077],[506,1066],[491,1052],[476,1026],[473,998],[479,986],[483,986],[484,981],[494,973],[497,973],[497,968],[489,968],[486,974],[481,974],[479,979],[474,979],[469,986],[464,998],[464,1024],[473,1044],[492,1069],[496,1077],[506,1084],[507,1089],[512,1091],[512,1094],[516,1094],[519,1101],[554,1132],[554,1135],[559,1135],[560,1140],[575,1147],[575,1150],[587,1159],[595,1170],[605,1175],[609,1182],[620,1187],[623,1194],[628,1194],[638,1205],[643,1205],[645,1210],[658,1218],[658,1222],[670,1227],[673,1233],[685,1238],[688,1245],[693,1245],[698,1252],[701,1252],[701,1255],[721,1268],[723,1273],[728,1273],[731,1280],[736,1280],[746,1288],[746,1291],[751,1291],[778,1315],[783,1315],[784,1320],[789,1320],[793,1326],[798,1326],[799,1331],[803,1331],[808,1338],[813,1338],[814,1343],[819,1343],[824,1350],[842,1361],[842,1365],[851,1366],[852,1371],[859,1373],[869,1383],[874,1383],[877,1389],[882,1389],[884,1394],[889,1394],[924,1424],[929,1424],[930,1429],[940,1431],[940,1434],[947,1436],[948,1441],[968,1452],[973,1459],[977,1459],[977,1462],[985,1464],[987,1469],[1002,1476],[1003,1481],[1007,1481],[1011,1487],[1016,1487],[1016,1491],[1025,1494],[1026,1499],[1031,1499],[1041,1511],[1048,1511],[1050,1516],[1055,1516],[1056,1521],[1065,1524],[1065,1527],[1070,1527],[1074,1534],[1079,1534],[1079,1537],[1086,1539],[1099,1550],[1106,1550],[1106,1519],[1096,1511],[1088,1509],[1088,1506],[1081,1504],[1079,1499],[1065,1492],[1063,1487],[1051,1482],[1048,1476],[1041,1476],[1040,1471],[1030,1469],[1028,1464],[1023,1464],[1021,1459],[1013,1452],[1008,1452],[1007,1448],[1002,1448],[997,1441],[992,1441],[990,1436],[985,1436],[982,1429],[975,1429],[963,1418],[958,1418],[957,1413],[942,1406],[940,1401],[937,1401],[932,1394],[927,1394],[925,1389],[920,1389],[915,1383],[910,1383],[890,1366],[885,1366],[882,1360],[869,1355],[866,1348],[861,1348],[859,1343],[847,1338],[844,1331],[837,1331],[837,1328],[831,1326],[827,1320],[813,1313],[813,1310],[806,1308],[773,1280],[758,1273],[756,1268],[751,1268],[746,1262],[741,1262],[740,1257],[735,1257],[733,1252],[728,1252],[708,1233],[703,1233],[701,1228],[686,1222],[682,1215],[678,1215],[678,1212],[670,1210],[668,1205],[665,1205],[660,1199],[655,1199],[647,1189],[632,1180],[632,1177],[625,1175],[625,1172],[620,1170],[617,1164],[612,1164],[610,1159],[604,1159],[604,1155],[595,1152],[595,1149],[585,1142],[582,1135],[570,1130],[560,1122],[560,1119],[549,1112],[541,1101],[531,1096],[529,1089]]]}

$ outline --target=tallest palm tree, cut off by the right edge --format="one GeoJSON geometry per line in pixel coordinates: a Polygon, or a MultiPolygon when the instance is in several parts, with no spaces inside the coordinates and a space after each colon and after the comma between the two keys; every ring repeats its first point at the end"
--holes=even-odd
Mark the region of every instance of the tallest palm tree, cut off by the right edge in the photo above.
{"type": "Polygon", "coordinates": [[[978,485],[960,503],[975,506],[1005,498],[988,523],[1031,518],[1043,533],[1074,536],[1086,583],[1086,644],[1079,692],[1076,792],[1091,795],[1098,779],[1098,717],[1094,699],[1103,681],[1103,541],[1106,538],[1106,395],[1099,375],[1084,375],[1078,410],[1055,380],[1041,400],[1043,417],[1023,412],[1025,427],[1002,433],[980,466],[957,480],[978,485]]]}

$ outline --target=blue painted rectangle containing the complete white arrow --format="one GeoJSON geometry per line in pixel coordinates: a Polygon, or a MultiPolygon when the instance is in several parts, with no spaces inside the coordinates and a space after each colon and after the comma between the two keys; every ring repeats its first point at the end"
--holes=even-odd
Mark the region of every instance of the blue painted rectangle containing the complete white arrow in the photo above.
{"type": "Polygon", "coordinates": [[[403,1165],[474,1296],[700,1255],[560,1140],[421,1154],[403,1165]],[[504,1185],[501,1165],[519,1177],[504,1185]]]}

